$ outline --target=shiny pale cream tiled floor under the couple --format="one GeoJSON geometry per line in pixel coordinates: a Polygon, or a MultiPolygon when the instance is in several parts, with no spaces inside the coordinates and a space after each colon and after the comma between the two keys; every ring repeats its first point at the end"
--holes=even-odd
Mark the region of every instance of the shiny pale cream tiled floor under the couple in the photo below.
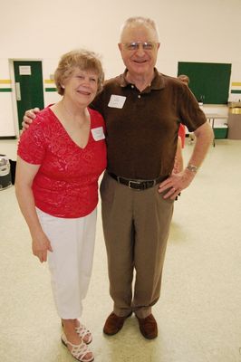
{"type": "MultiPolygon", "coordinates": [[[[193,145],[184,148],[186,161],[193,145]]],[[[16,141],[0,140],[14,158],[16,141]]],[[[0,361],[67,362],[49,271],[31,254],[14,187],[0,192],[0,361]]],[[[128,319],[102,334],[111,312],[99,210],[92,282],[82,321],[96,362],[241,362],[241,141],[217,140],[175,204],[162,293],[153,314],[159,337],[141,337],[128,319]]]]}

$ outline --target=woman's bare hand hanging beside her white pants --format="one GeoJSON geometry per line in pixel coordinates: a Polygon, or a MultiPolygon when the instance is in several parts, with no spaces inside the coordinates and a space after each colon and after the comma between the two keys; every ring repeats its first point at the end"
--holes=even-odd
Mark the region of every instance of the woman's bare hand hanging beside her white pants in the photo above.
{"type": "Polygon", "coordinates": [[[33,235],[32,250],[33,254],[39,258],[40,262],[46,262],[47,253],[53,252],[51,243],[43,231],[33,235]]]}

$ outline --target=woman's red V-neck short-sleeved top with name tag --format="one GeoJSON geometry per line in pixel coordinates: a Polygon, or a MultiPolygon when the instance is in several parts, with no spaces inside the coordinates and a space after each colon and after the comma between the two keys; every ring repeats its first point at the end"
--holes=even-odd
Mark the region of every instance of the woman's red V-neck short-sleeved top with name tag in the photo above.
{"type": "Polygon", "coordinates": [[[98,203],[98,178],[106,167],[105,125],[88,109],[91,131],[80,148],[50,108],[38,113],[22,134],[18,155],[41,165],[33,182],[35,205],[47,214],[75,218],[90,214],[98,203]]]}

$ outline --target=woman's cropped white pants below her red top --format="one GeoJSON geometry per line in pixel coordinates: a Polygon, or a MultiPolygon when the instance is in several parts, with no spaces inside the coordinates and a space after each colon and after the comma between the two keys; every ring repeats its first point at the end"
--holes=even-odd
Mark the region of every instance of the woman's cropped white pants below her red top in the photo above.
{"type": "Polygon", "coordinates": [[[36,211],[53,248],[48,252],[48,263],[58,314],[62,319],[79,318],[92,274],[96,209],[76,219],[36,211]]]}

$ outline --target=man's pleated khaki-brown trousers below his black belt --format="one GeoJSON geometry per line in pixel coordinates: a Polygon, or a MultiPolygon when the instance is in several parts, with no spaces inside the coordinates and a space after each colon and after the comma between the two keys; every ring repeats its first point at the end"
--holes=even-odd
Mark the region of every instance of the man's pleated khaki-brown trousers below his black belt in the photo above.
{"type": "Polygon", "coordinates": [[[159,300],[173,201],[164,200],[158,187],[133,190],[107,172],[101,181],[110,293],[120,317],[132,310],[146,318],[159,300]]]}

